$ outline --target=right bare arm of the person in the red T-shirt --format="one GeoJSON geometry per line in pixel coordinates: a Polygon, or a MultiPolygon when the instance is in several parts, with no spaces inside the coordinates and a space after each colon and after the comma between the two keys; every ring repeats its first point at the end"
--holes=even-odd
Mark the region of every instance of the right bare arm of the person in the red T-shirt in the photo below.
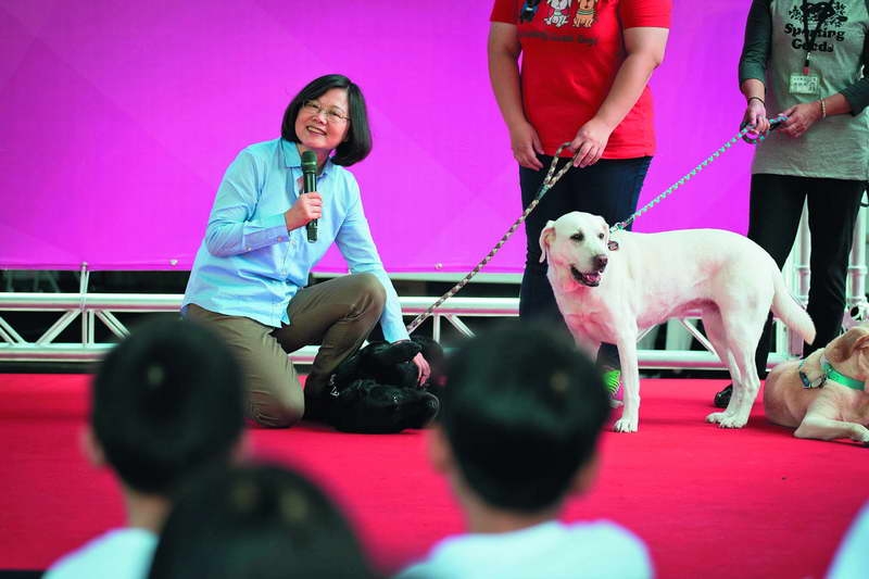
{"type": "Polygon", "coordinates": [[[625,30],[628,55],[597,114],[580,127],[570,143],[571,149],[579,152],[574,162],[576,166],[584,167],[601,159],[609,135],[637,104],[652,72],[664,61],[668,36],[668,28],[643,26],[625,30]]]}

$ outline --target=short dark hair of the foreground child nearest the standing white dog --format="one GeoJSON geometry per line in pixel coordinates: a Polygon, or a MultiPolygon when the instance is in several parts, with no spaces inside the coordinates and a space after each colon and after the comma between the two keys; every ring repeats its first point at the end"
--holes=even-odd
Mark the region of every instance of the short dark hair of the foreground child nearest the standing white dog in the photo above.
{"type": "Polygon", "coordinates": [[[440,425],[469,488],[491,506],[555,506],[594,455],[609,416],[601,374],[566,335],[528,323],[450,357],[440,425]]]}

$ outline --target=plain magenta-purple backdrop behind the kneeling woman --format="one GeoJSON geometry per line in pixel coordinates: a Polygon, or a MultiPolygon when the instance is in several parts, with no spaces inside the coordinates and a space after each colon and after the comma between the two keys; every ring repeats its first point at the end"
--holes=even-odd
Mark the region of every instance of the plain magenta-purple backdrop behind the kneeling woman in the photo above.
{"type": "MultiPolygon", "coordinates": [[[[677,0],[642,203],[736,131],[748,4],[677,0]]],[[[307,80],[340,72],[370,108],[375,149],[353,172],[387,269],[467,270],[521,212],[489,88],[489,10],[0,0],[0,267],[189,268],[227,164],[278,135],[307,80]]],[[[734,146],[637,229],[744,231],[750,160],[734,146]]],[[[519,272],[524,247],[520,230],[487,272],[519,272]]],[[[332,252],[318,269],[344,264],[332,252]]]]}

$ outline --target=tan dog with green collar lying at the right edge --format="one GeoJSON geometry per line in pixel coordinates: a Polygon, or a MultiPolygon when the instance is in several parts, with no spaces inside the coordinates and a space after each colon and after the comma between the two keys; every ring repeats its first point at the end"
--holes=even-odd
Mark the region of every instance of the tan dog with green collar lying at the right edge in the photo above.
{"type": "Polygon", "coordinates": [[[849,438],[869,446],[869,327],[856,326],[805,361],[779,364],[764,385],[771,423],[797,438],[849,438]]]}

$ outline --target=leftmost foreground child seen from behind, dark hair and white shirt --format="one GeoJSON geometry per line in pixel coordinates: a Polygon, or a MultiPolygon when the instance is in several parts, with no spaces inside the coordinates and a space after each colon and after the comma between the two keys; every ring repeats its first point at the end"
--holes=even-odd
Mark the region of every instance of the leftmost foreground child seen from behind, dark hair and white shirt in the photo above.
{"type": "Polygon", "coordinates": [[[126,526],[55,563],[49,579],[148,574],[169,495],[194,471],[228,463],[244,425],[241,370],[210,331],[151,322],[114,348],[93,380],[84,446],[124,494],[126,526]]]}

